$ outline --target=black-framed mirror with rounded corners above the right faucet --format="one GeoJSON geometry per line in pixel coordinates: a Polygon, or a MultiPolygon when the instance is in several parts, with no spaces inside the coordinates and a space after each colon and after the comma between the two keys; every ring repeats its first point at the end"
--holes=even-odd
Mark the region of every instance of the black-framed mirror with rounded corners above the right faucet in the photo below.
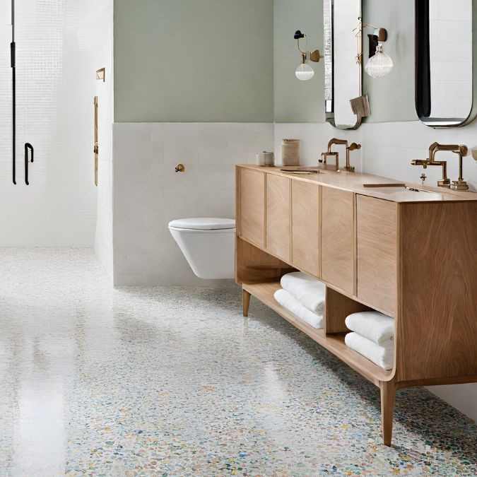
{"type": "Polygon", "coordinates": [[[415,0],[416,112],[431,127],[477,117],[473,0],[415,0]]]}

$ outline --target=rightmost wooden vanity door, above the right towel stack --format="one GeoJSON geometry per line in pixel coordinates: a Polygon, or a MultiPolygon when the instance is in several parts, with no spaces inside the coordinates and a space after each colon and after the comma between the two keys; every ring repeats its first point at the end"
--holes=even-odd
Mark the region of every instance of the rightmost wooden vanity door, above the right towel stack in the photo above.
{"type": "Polygon", "coordinates": [[[397,204],[357,196],[358,298],[396,314],[397,204]]]}

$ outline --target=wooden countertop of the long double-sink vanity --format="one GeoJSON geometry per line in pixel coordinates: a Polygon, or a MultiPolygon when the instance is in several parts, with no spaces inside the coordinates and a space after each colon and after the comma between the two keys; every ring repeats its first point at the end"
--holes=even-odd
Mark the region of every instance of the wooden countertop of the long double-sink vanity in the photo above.
{"type": "Polygon", "coordinates": [[[281,175],[283,177],[293,177],[293,179],[313,182],[315,184],[332,187],[334,189],[346,190],[363,196],[376,197],[392,202],[462,202],[477,201],[477,193],[469,191],[453,191],[442,187],[430,187],[422,184],[411,184],[406,182],[406,187],[420,189],[412,191],[405,189],[399,184],[404,182],[389,177],[381,177],[372,174],[362,174],[360,172],[335,172],[324,170],[320,167],[306,166],[273,166],[262,167],[254,164],[238,164],[237,167],[260,170],[267,174],[281,175]],[[318,170],[318,174],[293,174],[283,170],[318,170]],[[396,184],[396,187],[365,187],[363,184],[396,184]]]}

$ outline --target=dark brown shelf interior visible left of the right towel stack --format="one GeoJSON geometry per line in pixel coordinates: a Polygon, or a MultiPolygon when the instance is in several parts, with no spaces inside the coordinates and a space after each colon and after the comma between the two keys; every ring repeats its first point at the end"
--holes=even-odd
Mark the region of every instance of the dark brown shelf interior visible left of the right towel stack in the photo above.
{"type": "Polygon", "coordinates": [[[341,295],[333,288],[326,287],[326,300],[324,308],[324,332],[325,334],[347,333],[345,319],[348,315],[358,312],[366,312],[369,307],[356,302],[351,298],[341,295]]]}

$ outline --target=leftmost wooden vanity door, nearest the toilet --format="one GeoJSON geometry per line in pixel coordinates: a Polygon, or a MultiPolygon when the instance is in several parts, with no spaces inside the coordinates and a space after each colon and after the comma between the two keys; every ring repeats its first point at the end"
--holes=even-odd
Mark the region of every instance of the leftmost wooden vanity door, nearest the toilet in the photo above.
{"type": "Polygon", "coordinates": [[[265,247],[265,173],[240,168],[239,235],[265,247]]]}

